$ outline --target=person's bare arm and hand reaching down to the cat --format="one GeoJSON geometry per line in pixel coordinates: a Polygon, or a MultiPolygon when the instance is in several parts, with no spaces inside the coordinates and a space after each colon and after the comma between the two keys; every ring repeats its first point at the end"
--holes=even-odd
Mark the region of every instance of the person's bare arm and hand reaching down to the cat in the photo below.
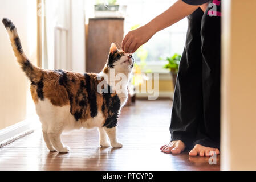
{"type": "Polygon", "coordinates": [[[144,26],[128,32],[122,42],[122,49],[125,53],[135,52],[142,44],[156,34],[156,32],[171,26],[179,20],[190,15],[201,5],[189,5],[178,0],[164,13],[156,16],[144,26]]]}

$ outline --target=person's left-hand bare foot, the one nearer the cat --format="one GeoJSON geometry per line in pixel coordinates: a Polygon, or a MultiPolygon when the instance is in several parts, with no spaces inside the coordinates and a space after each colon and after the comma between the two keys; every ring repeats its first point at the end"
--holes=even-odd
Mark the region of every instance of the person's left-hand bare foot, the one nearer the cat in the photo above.
{"type": "Polygon", "coordinates": [[[166,154],[180,154],[185,148],[185,144],[181,140],[177,140],[162,146],[160,150],[166,154]]]}

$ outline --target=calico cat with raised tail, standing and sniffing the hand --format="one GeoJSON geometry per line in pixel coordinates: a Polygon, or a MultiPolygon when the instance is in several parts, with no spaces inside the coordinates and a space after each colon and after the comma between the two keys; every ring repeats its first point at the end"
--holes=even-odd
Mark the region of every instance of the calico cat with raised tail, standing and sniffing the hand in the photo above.
{"type": "Polygon", "coordinates": [[[15,57],[31,81],[30,91],[47,148],[69,152],[70,148],[63,145],[60,135],[63,131],[81,127],[98,127],[101,147],[109,147],[110,144],[115,148],[122,147],[117,141],[117,118],[128,97],[127,85],[134,63],[132,55],[117,49],[112,43],[107,63],[100,73],[42,69],[27,59],[14,24],[7,18],[2,22],[15,57]],[[113,71],[114,76],[122,74],[127,78],[119,92],[111,86],[119,81],[111,80],[113,71]],[[99,86],[102,82],[104,84],[99,86]],[[104,90],[108,92],[101,92],[104,90]]]}

